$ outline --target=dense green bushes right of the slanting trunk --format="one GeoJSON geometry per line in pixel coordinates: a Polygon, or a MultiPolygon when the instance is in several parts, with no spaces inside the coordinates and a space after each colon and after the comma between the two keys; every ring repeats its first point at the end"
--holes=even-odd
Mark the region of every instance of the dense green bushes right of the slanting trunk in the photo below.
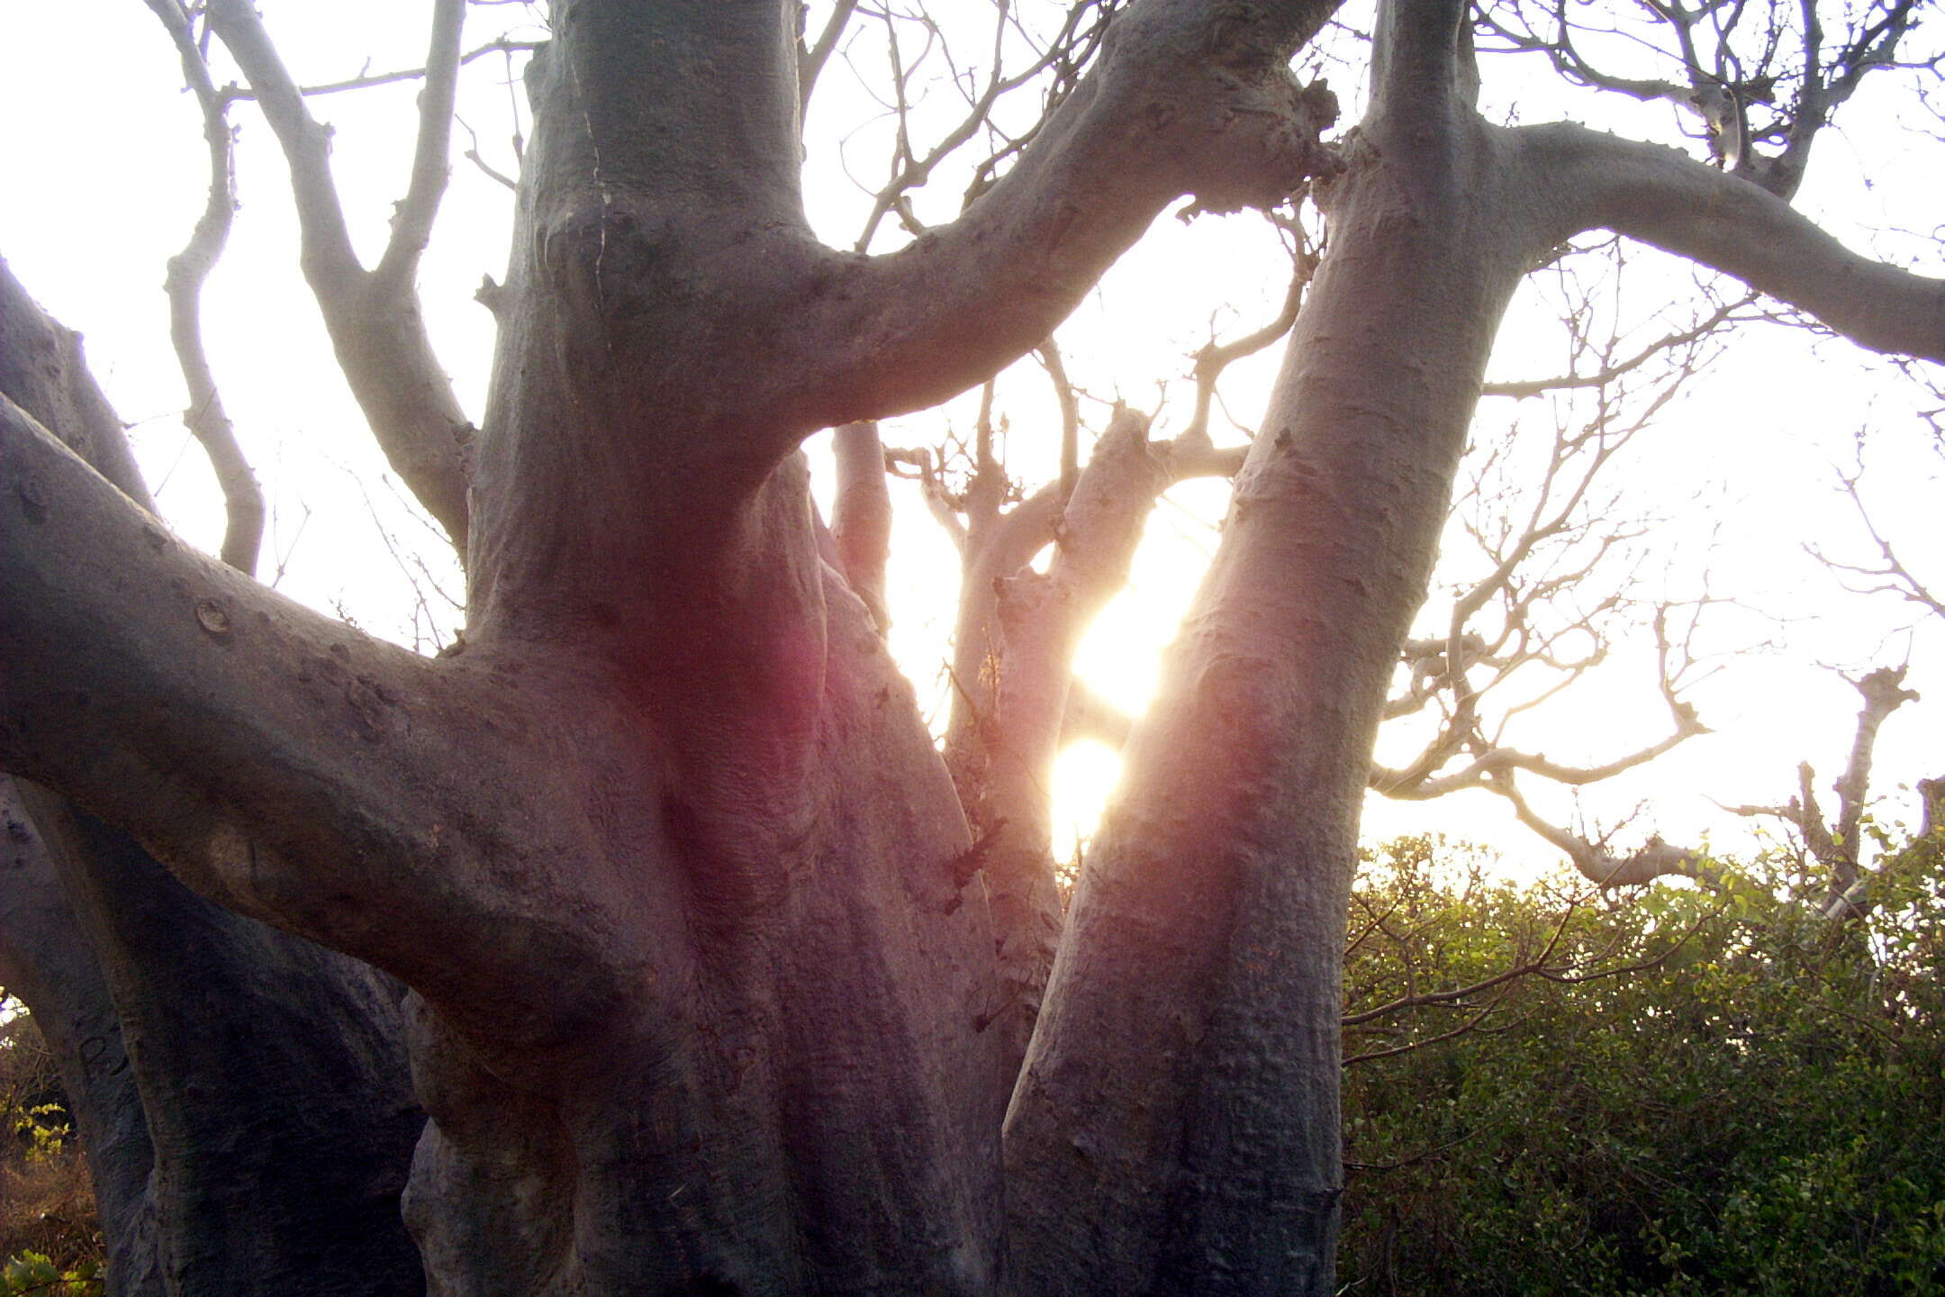
{"type": "Polygon", "coordinates": [[[1346,1291],[1945,1291],[1933,844],[1848,926],[1782,858],[1601,898],[1437,854],[1365,871],[1348,1019],[1538,968],[1346,1033],[1346,1291]]]}

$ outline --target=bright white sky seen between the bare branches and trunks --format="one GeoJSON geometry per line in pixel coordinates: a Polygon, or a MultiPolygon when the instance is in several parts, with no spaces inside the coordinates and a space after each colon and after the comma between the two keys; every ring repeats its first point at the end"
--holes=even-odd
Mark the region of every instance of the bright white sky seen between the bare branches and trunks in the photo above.
{"type": "MultiPolygon", "coordinates": [[[[263,10],[303,82],[336,80],[368,66],[407,68],[422,58],[420,4],[265,0],[263,10]]],[[[980,14],[984,6],[963,12],[980,14]]],[[[517,8],[475,10],[469,47],[517,16],[517,8]]],[[[193,543],[214,548],[220,502],[179,420],[183,387],[167,348],[161,296],[163,264],[187,239],[204,194],[206,156],[194,103],[181,93],[167,39],[140,0],[0,0],[0,31],[8,33],[0,47],[0,121],[10,123],[0,144],[0,175],[8,177],[0,191],[0,253],[29,292],[88,334],[95,373],[134,424],[136,451],[171,523],[193,543]]],[[[860,41],[854,54],[862,68],[877,49],[860,41]]],[[[1484,72],[1494,111],[1517,111],[1523,121],[1570,115],[1679,142],[1675,113],[1665,105],[1572,91],[1535,66],[1503,58],[1488,60],[1484,72]]],[[[1346,99],[1346,117],[1356,117],[1352,88],[1340,72],[1332,72],[1332,82],[1346,99]]],[[[1945,146],[1896,126],[1902,107],[1896,89],[1883,78],[1875,93],[1867,89],[1846,109],[1844,128],[1826,132],[1819,144],[1799,206],[1852,247],[1924,257],[1931,274],[1945,274],[1935,241],[1896,233],[1898,228],[1931,231],[1945,218],[1939,185],[1945,146]]],[[[412,95],[412,86],[399,86],[313,103],[336,128],[336,179],[368,255],[383,243],[391,202],[405,189],[412,95]]],[[[1023,103],[1017,111],[1033,107],[1023,103]]],[[[459,111],[478,132],[482,152],[510,171],[510,93],[498,56],[467,70],[459,111]]],[[[867,208],[846,167],[866,181],[883,175],[885,123],[871,119],[869,99],[844,66],[834,66],[813,105],[807,167],[813,220],[834,243],[856,237],[867,208]],[[829,130],[832,123],[846,123],[842,146],[829,130]]],[[[298,276],[288,183],[268,128],[247,105],[235,121],[243,130],[243,210],[206,292],[204,317],[226,404],[274,506],[261,570],[270,579],[282,566],[286,593],[344,611],[375,634],[412,642],[412,585],[395,554],[407,566],[414,554],[422,556],[453,593],[457,578],[440,558],[434,533],[387,484],[331,362],[315,305],[298,276]]],[[[461,130],[455,156],[467,144],[461,130]]],[[[949,216],[961,189],[963,179],[937,181],[936,193],[922,196],[920,214],[949,216]]],[[[502,276],[508,228],[510,194],[455,158],[453,187],[420,282],[436,348],[475,420],[482,414],[492,321],[471,294],[482,274],[502,276]]],[[[889,247],[895,237],[887,228],[875,247],[889,247]]],[[[1679,319],[1679,303],[1692,296],[1690,274],[1645,251],[1634,261],[1644,274],[1624,290],[1622,315],[1651,338],[1667,333],[1667,323],[1655,323],[1657,311],[1673,309],[1679,319]],[[1663,264],[1651,264],[1657,261],[1663,264]]],[[[1173,381],[1157,422],[1157,436],[1171,436],[1190,406],[1190,389],[1179,381],[1188,369],[1186,356],[1208,338],[1212,319],[1231,336],[1268,319],[1284,292],[1284,264],[1256,218],[1204,218],[1190,226],[1159,220],[1149,239],[1060,331],[1072,373],[1097,397],[1120,395],[1144,408],[1153,408],[1159,385],[1173,381]]],[[[1562,354],[1560,329],[1535,294],[1515,305],[1494,375],[1554,373],[1562,354]]],[[[1225,408],[1243,424],[1264,404],[1278,348],[1270,348],[1225,379],[1225,408]]],[[[1649,830],[1684,842],[1714,830],[1717,844],[1743,842],[1743,824],[1723,817],[1710,797],[1782,801],[1795,786],[1799,760],[1815,762],[1824,786],[1838,774],[1856,694],[1832,665],[1857,671],[1910,655],[1908,684],[1926,694],[1924,704],[1902,710],[1883,733],[1877,772],[1879,789],[1891,793],[1889,815],[1912,813],[1896,782],[1945,774],[1937,743],[1945,718],[1945,626],[1933,618],[1916,634],[1896,634],[1912,622],[1906,607],[1842,593],[1801,550],[1813,541],[1836,554],[1869,556],[1850,506],[1834,492],[1832,467],[1848,463],[1854,434],[1871,428],[1865,492],[1879,525],[1933,589],[1945,587],[1935,525],[1945,482],[1939,482],[1941,461],[1912,416],[1912,389],[1889,366],[1865,362],[1844,342],[1813,342],[1780,329],[1749,331],[1712,377],[1665,410],[1628,461],[1616,465],[1614,482],[1626,488],[1624,515],[1663,519],[1640,546],[1647,593],[1663,583],[1677,593],[1692,591],[1706,570],[1717,595],[1745,605],[1708,622],[1710,644],[1721,651],[1758,642],[1778,648],[1729,659],[1696,686],[1690,700],[1715,733],[1647,770],[1589,789],[1579,803],[1589,823],[1607,826],[1647,803],[1622,842],[1649,830]]],[[[1517,410],[1509,404],[1486,403],[1482,436],[1486,420],[1507,414],[1546,434],[1548,412],[1540,403],[1521,403],[1517,410]]],[[[1000,408],[1011,420],[1013,471],[1044,478],[1056,414],[1033,362],[1002,381],[1000,408]]],[[[1101,406],[1085,410],[1095,426],[1099,412],[1101,406]]],[[[885,428],[885,439],[936,443],[947,420],[967,430],[969,401],[897,420],[885,428]]],[[[1223,436],[1220,414],[1216,432],[1223,436]]],[[[1128,593],[1081,651],[1079,669],[1103,694],[1130,708],[1146,700],[1161,646],[1216,544],[1212,521],[1221,513],[1223,494],[1220,486],[1194,484],[1157,509],[1128,593]]],[[[901,492],[899,504],[891,572],[895,649],[920,696],[943,700],[937,663],[951,624],[943,591],[955,560],[918,500],[901,492]]],[[[1437,607],[1437,595],[1428,607],[1437,607]]],[[[457,611],[440,607],[436,618],[451,626],[457,611]]],[[[1589,683],[1529,719],[1531,727],[1513,741],[1556,760],[1597,764],[1653,741],[1665,712],[1653,690],[1651,646],[1618,646],[1589,683]]],[[[1402,760],[1408,749],[1408,733],[1387,731],[1379,754],[1402,760]]],[[[1113,756],[1101,749],[1072,753],[1062,762],[1058,795],[1070,830],[1085,832],[1113,770],[1113,756]]],[[[1574,815],[1572,799],[1542,791],[1538,782],[1531,782],[1529,795],[1556,819],[1574,815]]],[[[1369,836],[1412,828],[1490,840],[1527,865],[1554,858],[1511,826],[1486,793],[1402,807],[1373,799],[1369,836]]]]}

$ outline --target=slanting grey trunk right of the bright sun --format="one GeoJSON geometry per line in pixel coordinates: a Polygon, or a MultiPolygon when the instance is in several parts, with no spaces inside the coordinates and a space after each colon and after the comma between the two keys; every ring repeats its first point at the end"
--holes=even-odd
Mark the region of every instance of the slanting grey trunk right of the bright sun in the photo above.
{"type": "Polygon", "coordinates": [[[1023,1293],[1332,1291],[1358,813],[1531,251],[1457,8],[1385,8],[1330,251],[1070,908],[1008,1112],[1023,1293]]]}

